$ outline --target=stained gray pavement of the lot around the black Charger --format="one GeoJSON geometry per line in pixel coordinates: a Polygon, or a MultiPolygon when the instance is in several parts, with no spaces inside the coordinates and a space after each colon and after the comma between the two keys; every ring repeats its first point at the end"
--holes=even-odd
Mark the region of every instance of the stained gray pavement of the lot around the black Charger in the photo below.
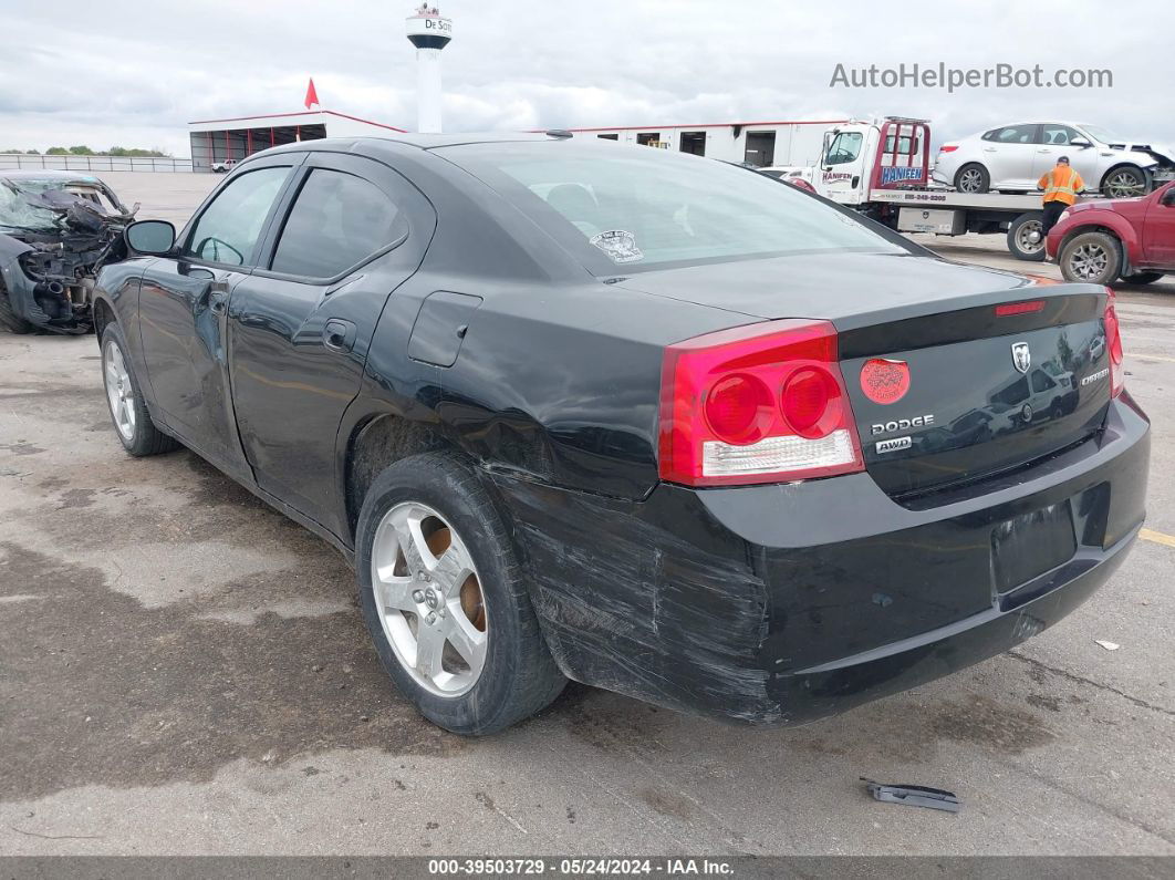
{"type": "MultiPolygon", "coordinates": [[[[220,180],[103,176],[177,224],[220,180]]],[[[925,243],[1060,277],[1001,237],[925,243]]],[[[1060,625],[801,728],[571,685],[483,740],[391,690],[335,550],[190,452],[123,452],[92,336],[0,335],[0,851],[1175,854],[1175,277],[1119,315],[1149,519],[1060,625]]]]}

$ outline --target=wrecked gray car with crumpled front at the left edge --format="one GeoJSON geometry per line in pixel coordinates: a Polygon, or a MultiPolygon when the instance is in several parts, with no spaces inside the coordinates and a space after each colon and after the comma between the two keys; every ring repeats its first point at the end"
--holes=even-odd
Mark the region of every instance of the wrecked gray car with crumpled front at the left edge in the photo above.
{"type": "Polygon", "coordinates": [[[87,174],[0,174],[0,327],[89,332],[94,277],[126,257],[136,210],[87,174]]]}

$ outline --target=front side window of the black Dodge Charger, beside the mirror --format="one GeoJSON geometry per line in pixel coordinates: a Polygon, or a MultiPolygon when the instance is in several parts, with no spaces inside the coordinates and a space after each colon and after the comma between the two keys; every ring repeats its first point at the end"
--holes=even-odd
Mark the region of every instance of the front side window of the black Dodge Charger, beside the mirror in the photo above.
{"type": "Polygon", "coordinates": [[[204,209],[188,236],[184,253],[199,260],[244,266],[289,168],[258,168],[233,180],[204,209]]]}

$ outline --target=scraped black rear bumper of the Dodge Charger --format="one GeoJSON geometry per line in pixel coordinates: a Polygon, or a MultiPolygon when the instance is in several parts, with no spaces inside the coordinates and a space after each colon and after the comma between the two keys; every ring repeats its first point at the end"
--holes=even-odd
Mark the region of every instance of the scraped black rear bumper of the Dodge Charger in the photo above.
{"type": "Polygon", "coordinates": [[[1148,459],[1149,424],[1123,396],[1075,448],[906,504],[867,473],[663,484],[642,503],[496,483],[566,674],[800,724],[969,666],[1073,611],[1126,558],[1148,459]]]}

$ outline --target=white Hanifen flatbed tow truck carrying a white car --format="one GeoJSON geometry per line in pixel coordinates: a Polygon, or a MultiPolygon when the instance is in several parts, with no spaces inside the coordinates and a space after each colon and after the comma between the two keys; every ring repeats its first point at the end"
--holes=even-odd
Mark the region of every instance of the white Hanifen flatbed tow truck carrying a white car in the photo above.
{"type": "Polygon", "coordinates": [[[1040,194],[969,194],[934,183],[929,148],[928,120],[854,120],[825,132],[818,164],[768,170],[901,233],[1002,233],[1016,258],[1045,258],[1040,194]]]}

